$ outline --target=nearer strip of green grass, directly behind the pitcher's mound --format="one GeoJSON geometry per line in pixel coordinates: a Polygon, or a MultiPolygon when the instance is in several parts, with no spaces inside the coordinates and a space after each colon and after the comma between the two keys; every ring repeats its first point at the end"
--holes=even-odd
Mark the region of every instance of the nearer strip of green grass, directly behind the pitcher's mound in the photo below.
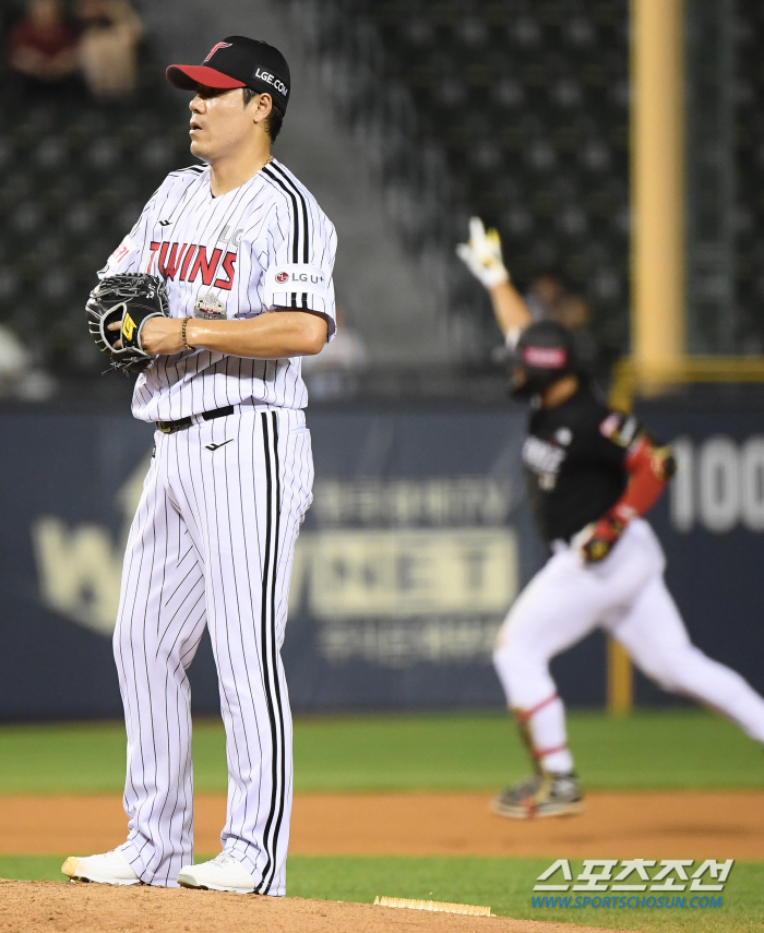
{"type": "MultiPolygon", "coordinates": [[[[204,858],[204,857],[200,857],[204,858]]],[[[62,857],[0,856],[0,877],[61,881],[62,857]]],[[[656,933],[760,933],[764,926],[764,863],[739,862],[719,908],[595,909],[532,907],[535,880],[549,859],[330,858],[293,856],[288,894],[370,904],[379,895],[487,905],[494,913],[656,933]]],[[[574,877],[581,863],[571,863],[574,877]]]]}

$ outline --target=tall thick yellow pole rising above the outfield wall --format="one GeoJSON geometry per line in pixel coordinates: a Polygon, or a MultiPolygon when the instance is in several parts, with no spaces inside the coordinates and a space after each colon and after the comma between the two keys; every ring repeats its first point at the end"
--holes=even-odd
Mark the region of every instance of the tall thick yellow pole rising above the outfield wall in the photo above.
{"type": "Polygon", "coordinates": [[[631,0],[632,358],[648,393],[684,354],[683,8],[631,0]]]}

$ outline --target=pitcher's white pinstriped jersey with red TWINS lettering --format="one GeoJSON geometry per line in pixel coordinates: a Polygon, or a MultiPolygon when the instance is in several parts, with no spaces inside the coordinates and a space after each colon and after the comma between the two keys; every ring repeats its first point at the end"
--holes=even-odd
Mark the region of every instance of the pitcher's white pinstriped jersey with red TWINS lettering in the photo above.
{"type": "MultiPolygon", "coordinates": [[[[277,160],[214,198],[210,169],[170,172],[98,273],[145,272],[166,284],[172,318],[254,318],[274,308],[324,315],[334,336],[337,238],[313,195],[277,160]]],[[[212,352],[159,356],[139,375],[132,411],[174,421],[252,399],[305,408],[301,359],[212,352]]]]}

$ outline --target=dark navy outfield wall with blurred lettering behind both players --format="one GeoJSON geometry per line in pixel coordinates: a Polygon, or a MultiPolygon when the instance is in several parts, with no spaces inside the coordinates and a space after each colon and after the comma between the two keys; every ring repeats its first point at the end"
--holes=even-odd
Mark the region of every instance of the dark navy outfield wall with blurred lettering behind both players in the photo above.
{"type": "MultiPolygon", "coordinates": [[[[680,474],[653,522],[696,642],[764,691],[764,433],[754,408],[645,408],[680,474]]],[[[499,707],[498,625],[544,561],[520,466],[525,412],[361,406],[309,415],[315,501],[284,648],[298,710],[499,707]]],[[[153,446],[128,415],[0,411],[0,719],[121,713],[110,633],[153,446]]],[[[211,469],[214,460],[211,459],[211,469]]],[[[599,635],[554,662],[572,705],[605,699],[599,635]]],[[[208,643],[191,670],[214,713],[208,643]]],[[[666,702],[637,680],[637,702],[666,702]]]]}

